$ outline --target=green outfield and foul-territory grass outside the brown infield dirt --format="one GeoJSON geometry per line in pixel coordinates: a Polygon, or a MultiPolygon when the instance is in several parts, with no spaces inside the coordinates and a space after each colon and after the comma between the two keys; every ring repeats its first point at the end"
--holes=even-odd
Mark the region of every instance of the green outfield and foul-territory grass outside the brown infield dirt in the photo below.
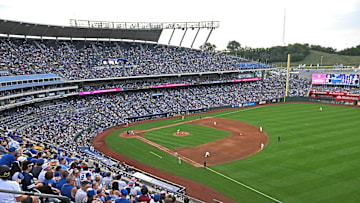
{"type": "MultiPolygon", "coordinates": [[[[269,144],[260,153],[210,168],[282,202],[360,202],[359,113],[360,109],[351,107],[288,103],[209,114],[262,126],[269,135],[269,144]],[[323,112],[319,112],[320,106],[323,112]]],[[[195,118],[198,116],[186,119],[195,118]]],[[[129,129],[150,129],[174,121],[154,121],[129,129]]],[[[191,129],[189,132],[192,133],[191,129]]],[[[179,165],[175,157],[118,134],[119,131],[112,133],[106,142],[119,153],[206,184],[238,202],[272,202],[203,168],[179,165]]],[[[167,141],[173,141],[173,137],[168,138],[167,141]]]]}

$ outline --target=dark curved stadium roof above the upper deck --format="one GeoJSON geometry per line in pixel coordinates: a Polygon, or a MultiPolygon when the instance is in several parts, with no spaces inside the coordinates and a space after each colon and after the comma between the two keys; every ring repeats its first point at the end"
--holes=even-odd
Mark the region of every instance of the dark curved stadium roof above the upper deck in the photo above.
{"type": "Polygon", "coordinates": [[[64,38],[108,38],[157,42],[162,29],[117,29],[44,25],[0,19],[0,34],[64,38]]]}

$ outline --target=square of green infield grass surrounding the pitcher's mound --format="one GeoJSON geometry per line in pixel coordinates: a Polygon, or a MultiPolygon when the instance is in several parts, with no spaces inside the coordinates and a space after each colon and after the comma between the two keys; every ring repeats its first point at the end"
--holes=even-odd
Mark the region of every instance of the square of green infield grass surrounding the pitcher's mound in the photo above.
{"type": "Polygon", "coordinates": [[[179,147],[191,147],[205,144],[230,135],[229,132],[208,128],[202,125],[185,123],[146,132],[144,137],[168,149],[176,149],[179,147]],[[185,137],[176,137],[173,133],[176,133],[178,129],[189,132],[190,134],[185,137]]]}

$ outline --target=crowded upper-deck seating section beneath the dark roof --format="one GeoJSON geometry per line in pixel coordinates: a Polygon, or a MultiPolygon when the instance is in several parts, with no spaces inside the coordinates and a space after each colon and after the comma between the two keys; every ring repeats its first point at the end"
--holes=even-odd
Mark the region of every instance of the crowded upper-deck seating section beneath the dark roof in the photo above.
{"type": "Polygon", "coordinates": [[[270,67],[181,47],[13,38],[0,39],[0,64],[12,75],[56,73],[70,80],[270,67]]]}

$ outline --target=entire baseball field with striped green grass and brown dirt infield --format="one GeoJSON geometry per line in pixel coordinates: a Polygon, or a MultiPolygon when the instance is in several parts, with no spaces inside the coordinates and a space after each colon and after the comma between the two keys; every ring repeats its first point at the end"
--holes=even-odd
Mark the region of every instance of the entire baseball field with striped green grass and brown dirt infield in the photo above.
{"type": "Polygon", "coordinates": [[[187,191],[206,201],[220,197],[217,191],[225,202],[359,202],[359,113],[317,103],[257,106],[118,127],[93,144],[165,179],[201,184],[187,191]],[[153,144],[120,136],[129,130],[153,144]],[[175,136],[178,130],[187,136],[175,136]],[[229,150],[217,151],[224,146],[229,150]],[[201,165],[204,150],[211,154],[207,169],[185,160],[201,165]],[[177,155],[184,155],[181,164],[177,155]]]}

